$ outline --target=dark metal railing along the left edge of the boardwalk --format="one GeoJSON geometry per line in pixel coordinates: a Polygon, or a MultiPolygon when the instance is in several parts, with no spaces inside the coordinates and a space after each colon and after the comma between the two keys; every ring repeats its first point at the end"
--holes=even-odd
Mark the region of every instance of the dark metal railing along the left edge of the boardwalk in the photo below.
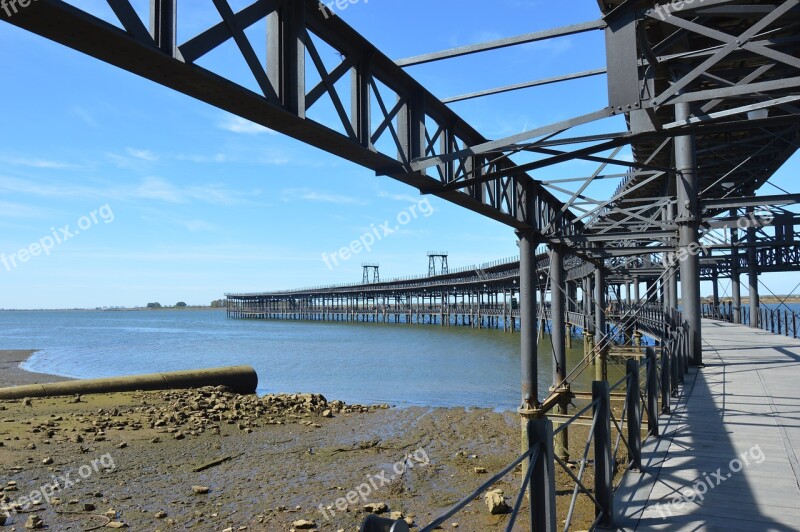
{"type": "MultiPolygon", "coordinates": [[[[421,529],[429,532],[452,518],[461,509],[499,482],[526,459],[528,469],[516,496],[506,530],[511,531],[519,515],[526,491],[530,492],[530,530],[535,532],[556,532],[557,523],[564,523],[564,532],[570,530],[575,514],[578,496],[585,494],[595,508],[595,520],[589,528],[614,526],[614,493],[621,483],[614,484],[619,466],[625,470],[642,469],[642,446],[648,437],[659,436],[660,415],[670,414],[671,401],[679,395],[684,375],[688,372],[688,334],[685,326],[671,330],[662,342],[661,353],[655,348],[644,349],[644,357],[632,356],[626,362],[626,374],[614,385],[608,381],[592,383],[591,402],[565,421],[559,420],[559,427],[553,430],[549,419],[528,419],[527,432],[529,449],[509,466],[481,484],[470,495],[459,501],[429,525],[421,529]],[[644,361],[641,362],[640,358],[644,361]],[[611,407],[612,392],[624,389],[624,404],[617,419],[611,407]],[[585,415],[591,411],[592,417],[585,415]],[[642,436],[643,414],[647,416],[646,432],[642,436]],[[555,436],[576,422],[591,420],[583,455],[578,460],[580,467],[573,472],[565,460],[554,453],[555,436]],[[612,436],[616,431],[616,438],[612,436]],[[613,443],[613,444],[612,444],[613,443]],[[622,451],[627,456],[621,457],[622,451]],[[593,453],[593,455],[592,455],[593,453]],[[590,459],[592,455],[592,459],[590,459]],[[559,520],[555,510],[556,475],[558,465],[571,479],[573,486],[570,504],[563,520],[559,520]],[[584,479],[589,468],[594,468],[594,486],[589,489],[584,479]]],[[[614,394],[615,396],[618,394],[614,394]]],[[[563,489],[563,487],[561,487],[563,489]]],[[[370,516],[364,522],[362,531],[389,530],[394,522],[370,516]],[[381,528],[382,527],[382,528],[381,528]]]]}

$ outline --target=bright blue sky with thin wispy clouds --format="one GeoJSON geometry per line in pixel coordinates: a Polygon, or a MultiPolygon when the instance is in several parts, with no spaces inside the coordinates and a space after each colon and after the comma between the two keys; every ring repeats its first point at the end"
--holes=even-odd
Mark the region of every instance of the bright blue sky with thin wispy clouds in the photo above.
{"type": "MultiPolygon", "coordinates": [[[[113,21],[105,2],[74,3],[113,21]]],[[[147,2],[133,4],[145,13],[147,2]]],[[[231,4],[239,9],[246,2],[231,4]]],[[[219,20],[211,2],[181,5],[191,9],[180,10],[180,42],[219,20]]],[[[599,13],[590,0],[370,0],[338,16],[399,59],[593,20],[599,13]]],[[[257,41],[258,28],[248,35],[257,41]]],[[[324,52],[334,64],[333,53],[324,52]]],[[[447,97],[604,62],[597,32],[409,72],[447,97]]],[[[255,86],[228,46],[200,63],[255,86]]],[[[389,178],[9,24],[0,24],[0,72],[0,253],[29,248],[66,225],[71,231],[85,227],[48,255],[0,264],[0,308],[208,304],[225,292],[357,281],[362,262],[380,263],[383,277],[425,273],[432,249],[449,251],[451,267],[517,252],[511,229],[430,198],[432,214],[412,219],[371,252],[329,268],[323,253],[396,220],[423,198],[389,178]],[[100,217],[104,212],[113,217],[100,217]]],[[[454,109],[485,136],[499,138],[605,105],[605,79],[599,77],[454,109]]],[[[324,121],[330,111],[320,106],[315,113],[324,121]]],[[[792,161],[775,183],[788,187],[797,168],[792,161]]],[[[536,177],[593,170],[578,162],[536,177]]],[[[614,185],[600,184],[592,192],[605,197],[602,187],[614,185]]],[[[793,288],[788,276],[770,282],[777,292],[793,288]]]]}

